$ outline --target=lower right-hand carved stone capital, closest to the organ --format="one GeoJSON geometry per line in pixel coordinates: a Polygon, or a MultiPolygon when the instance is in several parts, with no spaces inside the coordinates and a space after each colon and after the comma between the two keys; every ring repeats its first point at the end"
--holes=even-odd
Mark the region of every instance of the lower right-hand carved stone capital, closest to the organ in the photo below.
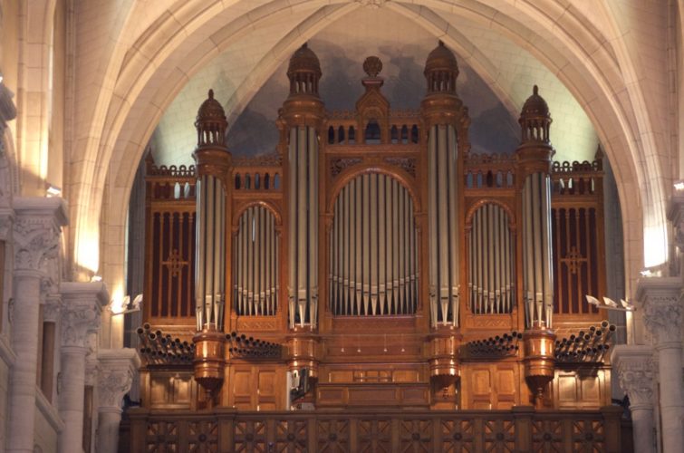
{"type": "Polygon", "coordinates": [[[631,409],[653,409],[656,366],[650,346],[620,344],[612,350],[611,363],[620,388],[630,397],[631,409]]]}

